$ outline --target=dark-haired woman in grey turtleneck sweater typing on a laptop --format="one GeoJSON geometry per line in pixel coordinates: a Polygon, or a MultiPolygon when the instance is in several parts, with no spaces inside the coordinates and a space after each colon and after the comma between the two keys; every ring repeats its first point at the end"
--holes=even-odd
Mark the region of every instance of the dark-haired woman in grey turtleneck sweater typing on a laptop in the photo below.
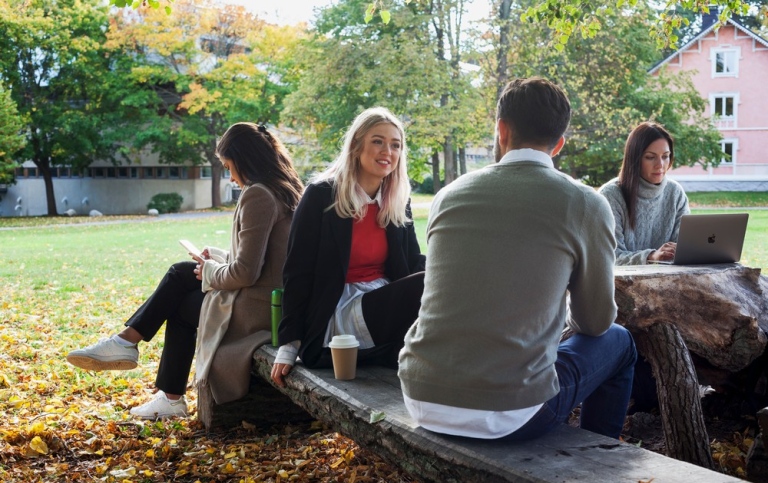
{"type": "Polygon", "coordinates": [[[661,124],[640,123],[627,138],[619,177],[599,190],[613,210],[617,265],[675,257],[680,219],[691,210],[683,187],[666,177],[674,145],[661,124]]]}

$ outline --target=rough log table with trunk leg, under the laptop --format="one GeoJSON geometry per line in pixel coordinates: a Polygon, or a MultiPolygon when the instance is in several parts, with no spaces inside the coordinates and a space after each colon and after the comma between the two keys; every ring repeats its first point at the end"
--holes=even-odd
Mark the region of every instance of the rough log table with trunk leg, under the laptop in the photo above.
{"type": "Polygon", "coordinates": [[[623,266],[615,279],[616,322],[653,368],[667,454],[712,468],[690,353],[708,363],[710,377],[735,373],[762,355],[768,279],[738,263],[623,266]]]}

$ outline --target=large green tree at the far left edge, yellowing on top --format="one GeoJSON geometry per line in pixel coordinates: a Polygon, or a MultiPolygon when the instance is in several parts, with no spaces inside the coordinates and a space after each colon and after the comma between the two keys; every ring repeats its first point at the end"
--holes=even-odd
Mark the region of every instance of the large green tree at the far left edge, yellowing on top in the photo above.
{"type": "Polygon", "coordinates": [[[99,0],[0,2],[0,84],[26,137],[13,158],[37,166],[49,215],[57,214],[52,169],[119,158],[114,144],[130,116],[118,95],[121,61],[104,46],[107,25],[99,0]]]}

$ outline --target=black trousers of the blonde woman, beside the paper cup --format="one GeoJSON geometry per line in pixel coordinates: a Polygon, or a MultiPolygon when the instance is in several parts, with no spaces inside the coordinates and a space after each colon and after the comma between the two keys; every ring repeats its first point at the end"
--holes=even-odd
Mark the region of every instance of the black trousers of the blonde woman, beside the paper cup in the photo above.
{"type": "MultiPolygon", "coordinates": [[[[397,357],[405,344],[405,333],[419,316],[423,292],[424,272],[417,272],[363,295],[363,318],[375,347],[358,351],[359,364],[397,368],[397,357]]],[[[316,341],[317,347],[307,348],[307,351],[320,352],[318,362],[312,367],[333,366],[331,350],[322,347],[322,343],[320,338],[316,341]]]]}

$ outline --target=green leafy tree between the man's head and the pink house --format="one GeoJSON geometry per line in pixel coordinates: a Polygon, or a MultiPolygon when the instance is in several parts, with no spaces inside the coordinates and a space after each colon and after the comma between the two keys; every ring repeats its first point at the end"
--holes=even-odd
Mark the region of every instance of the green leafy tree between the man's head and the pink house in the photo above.
{"type": "MultiPolygon", "coordinates": [[[[495,52],[507,64],[487,69],[509,78],[540,75],[563,87],[573,117],[567,142],[555,159],[558,168],[591,185],[616,176],[623,145],[632,127],[644,120],[664,124],[675,136],[675,161],[716,163],[722,156],[720,135],[705,117],[706,101],[685,74],[648,74],[659,60],[648,36],[654,12],[638,4],[630,11],[603,17],[608,28],[594,37],[573,37],[562,50],[548,47],[554,32],[522,21],[525,5],[512,8],[506,23],[509,44],[495,52]]],[[[493,60],[488,56],[487,60],[493,60]]],[[[487,91],[495,90],[493,83],[487,91]]]]}

